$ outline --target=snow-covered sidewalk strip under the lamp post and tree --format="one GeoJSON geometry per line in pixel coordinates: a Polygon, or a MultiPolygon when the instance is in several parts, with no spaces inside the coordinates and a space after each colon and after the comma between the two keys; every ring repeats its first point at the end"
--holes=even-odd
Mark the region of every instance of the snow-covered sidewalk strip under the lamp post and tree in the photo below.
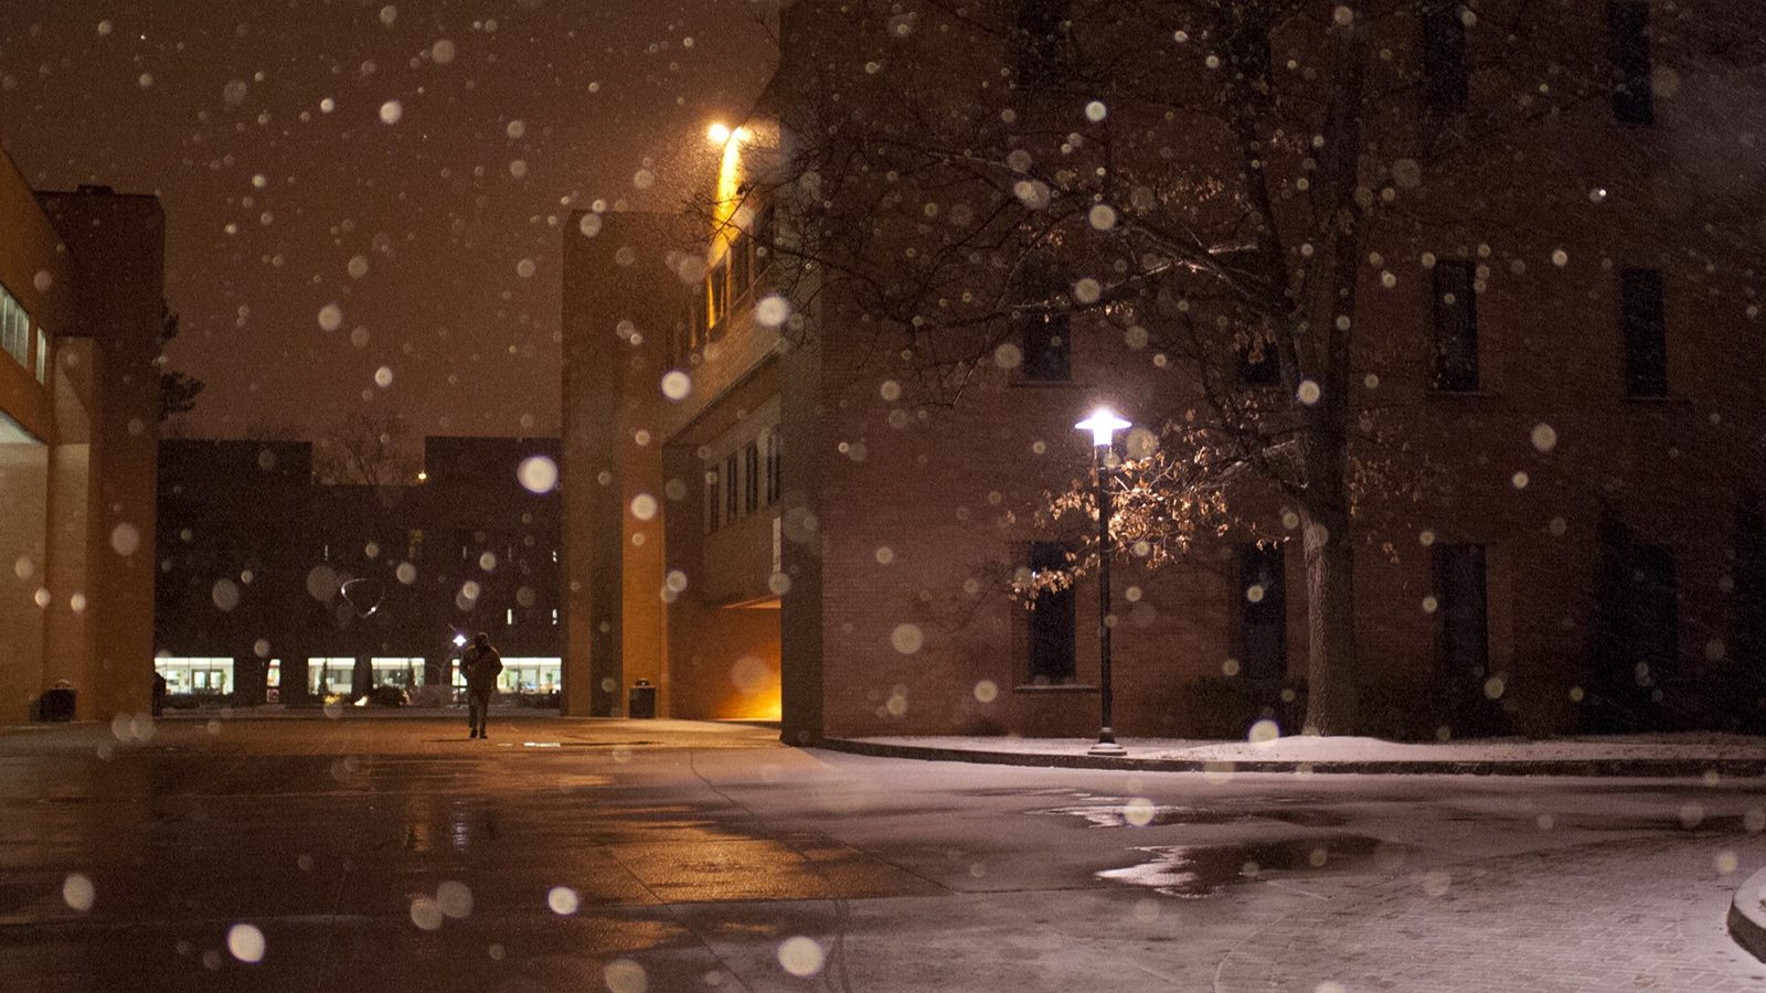
{"type": "Polygon", "coordinates": [[[1766,776],[1766,739],[1711,731],[1446,744],[1356,737],[1286,737],[1264,742],[1118,739],[1127,753],[1123,756],[1091,754],[1095,744],[1095,739],[902,735],[825,739],[821,747],[932,762],[1141,772],[1766,776]]]}

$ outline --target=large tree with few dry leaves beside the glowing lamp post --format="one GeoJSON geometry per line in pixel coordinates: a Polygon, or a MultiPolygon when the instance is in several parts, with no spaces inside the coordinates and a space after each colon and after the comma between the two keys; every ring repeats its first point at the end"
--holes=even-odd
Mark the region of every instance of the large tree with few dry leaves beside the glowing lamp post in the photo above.
{"type": "MultiPolygon", "coordinates": [[[[1612,97],[1604,53],[1565,42],[1575,14],[1450,0],[814,7],[782,25],[777,175],[735,212],[782,205],[775,251],[798,309],[839,300],[858,318],[841,334],[909,359],[932,403],[1031,360],[1026,329],[1056,346],[1111,332],[1136,360],[1181,368],[1162,428],[1114,474],[1104,553],[1158,562],[1203,534],[1298,528],[1307,726],[1353,733],[1355,514],[1420,474],[1388,458],[1404,412],[1356,368],[1377,345],[1358,341],[1363,295],[1393,283],[1370,247],[1464,240],[1478,182],[1508,164],[1505,136],[1612,97]],[[1471,83],[1503,99],[1468,101],[1471,83]]],[[[1411,258],[1430,265],[1425,253],[1411,258]]],[[[1053,509],[1095,519],[1090,484],[1053,509]]]]}

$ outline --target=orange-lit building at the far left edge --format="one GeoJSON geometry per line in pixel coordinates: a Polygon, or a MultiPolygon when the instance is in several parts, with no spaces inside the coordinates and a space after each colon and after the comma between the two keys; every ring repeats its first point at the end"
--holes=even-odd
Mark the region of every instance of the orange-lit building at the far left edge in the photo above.
{"type": "Polygon", "coordinates": [[[164,214],[0,155],[0,723],[148,710],[164,214]]]}

